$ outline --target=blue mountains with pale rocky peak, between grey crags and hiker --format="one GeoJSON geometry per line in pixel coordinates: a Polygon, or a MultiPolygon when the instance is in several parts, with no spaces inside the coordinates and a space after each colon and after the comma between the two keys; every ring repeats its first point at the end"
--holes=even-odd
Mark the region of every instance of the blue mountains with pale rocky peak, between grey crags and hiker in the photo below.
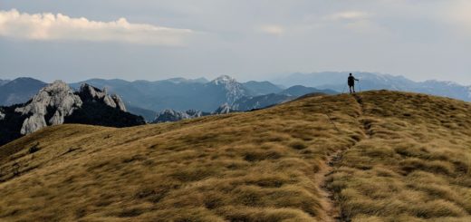
{"type": "MultiPolygon", "coordinates": [[[[149,111],[194,109],[210,112],[223,103],[233,104],[244,97],[284,90],[271,82],[241,83],[226,75],[210,82],[204,78],[174,78],[156,82],[91,79],[84,82],[120,94],[128,106],[149,111]]],[[[72,83],[71,86],[77,88],[80,84],[82,82],[72,83]]]]}

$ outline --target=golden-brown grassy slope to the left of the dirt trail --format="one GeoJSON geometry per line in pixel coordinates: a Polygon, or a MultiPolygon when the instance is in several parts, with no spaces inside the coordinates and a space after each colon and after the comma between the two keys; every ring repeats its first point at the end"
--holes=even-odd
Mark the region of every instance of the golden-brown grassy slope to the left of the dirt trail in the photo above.
{"type": "Polygon", "coordinates": [[[51,127],[2,148],[23,150],[0,160],[0,217],[322,220],[313,179],[329,152],[360,136],[358,111],[340,109],[351,100],[310,98],[120,130],[51,127]],[[350,133],[338,134],[324,110],[350,133]],[[28,153],[36,141],[40,150],[28,153]]]}

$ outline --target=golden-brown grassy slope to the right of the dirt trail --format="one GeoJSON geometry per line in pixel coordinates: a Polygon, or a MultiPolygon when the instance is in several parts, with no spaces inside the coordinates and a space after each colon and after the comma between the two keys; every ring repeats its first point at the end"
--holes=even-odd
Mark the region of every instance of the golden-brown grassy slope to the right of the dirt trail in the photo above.
{"type": "Polygon", "coordinates": [[[471,221],[471,105],[399,92],[368,92],[359,101],[368,140],[345,151],[330,178],[343,214],[471,221]]]}

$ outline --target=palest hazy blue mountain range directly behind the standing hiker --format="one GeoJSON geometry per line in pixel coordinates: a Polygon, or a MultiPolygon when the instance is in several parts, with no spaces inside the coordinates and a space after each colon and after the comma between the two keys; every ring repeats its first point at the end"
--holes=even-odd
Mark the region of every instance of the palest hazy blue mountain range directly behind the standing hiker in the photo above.
{"type": "MultiPolygon", "coordinates": [[[[337,92],[348,91],[347,76],[349,72],[313,72],[293,73],[274,80],[274,83],[285,86],[302,84],[304,86],[318,89],[330,89],[337,92]]],[[[421,92],[438,96],[445,96],[462,101],[471,101],[471,86],[460,85],[456,82],[443,82],[429,80],[425,82],[414,82],[404,76],[389,74],[353,72],[360,79],[357,89],[369,90],[392,90],[403,92],[421,92]]]]}

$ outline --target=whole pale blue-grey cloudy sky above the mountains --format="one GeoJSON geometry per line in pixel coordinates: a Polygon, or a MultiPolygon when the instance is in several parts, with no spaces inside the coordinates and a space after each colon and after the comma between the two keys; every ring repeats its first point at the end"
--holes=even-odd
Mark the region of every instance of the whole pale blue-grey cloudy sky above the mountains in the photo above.
{"type": "Polygon", "coordinates": [[[322,71],[471,84],[471,1],[0,1],[0,79],[322,71]]]}

